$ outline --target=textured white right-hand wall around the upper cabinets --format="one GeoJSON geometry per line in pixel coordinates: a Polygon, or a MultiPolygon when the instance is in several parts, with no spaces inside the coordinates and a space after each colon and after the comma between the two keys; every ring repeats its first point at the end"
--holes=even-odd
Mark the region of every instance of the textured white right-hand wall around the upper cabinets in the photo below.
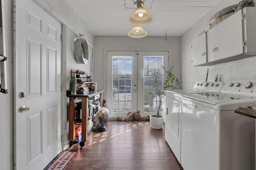
{"type": "MultiPolygon", "coordinates": [[[[238,2],[240,2],[240,0],[222,0],[206,16],[182,35],[182,88],[185,87],[185,84],[188,84],[187,88],[191,88],[192,83],[205,81],[207,68],[209,68],[208,81],[214,81],[216,74],[218,74],[218,81],[222,82],[228,82],[230,80],[256,80],[256,57],[215,64],[212,66],[193,67],[191,63],[192,40],[196,39],[202,31],[209,30],[210,18],[216,12],[227,6],[238,4],[238,2]]],[[[232,29],[232,25],[227,29],[232,29]]]]}

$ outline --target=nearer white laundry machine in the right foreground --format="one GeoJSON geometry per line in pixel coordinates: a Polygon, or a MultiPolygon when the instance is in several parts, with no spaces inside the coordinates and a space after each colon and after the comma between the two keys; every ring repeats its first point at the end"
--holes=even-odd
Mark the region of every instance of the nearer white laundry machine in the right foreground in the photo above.
{"type": "Polygon", "coordinates": [[[234,110],[256,104],[256,81],[232,81],[221,92],[182,97],[184,170],[254,170],[255,120],[234,110]]]}

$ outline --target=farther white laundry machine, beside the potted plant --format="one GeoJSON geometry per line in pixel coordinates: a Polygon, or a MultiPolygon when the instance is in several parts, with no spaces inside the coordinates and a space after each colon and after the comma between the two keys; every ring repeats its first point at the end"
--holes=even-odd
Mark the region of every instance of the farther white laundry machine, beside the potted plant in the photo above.
{"type": "Polygon", "coordinates": [[[222,82],[197,82],[193,90],[166,91],[165,140],[180,164],[182,96],[198,92],[219,92],[223,86],[222,82]]]}

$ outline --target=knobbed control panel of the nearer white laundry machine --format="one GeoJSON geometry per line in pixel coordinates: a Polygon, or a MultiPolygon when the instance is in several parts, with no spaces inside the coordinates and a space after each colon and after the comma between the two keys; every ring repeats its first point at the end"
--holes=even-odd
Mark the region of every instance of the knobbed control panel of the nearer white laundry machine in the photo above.
{"type": "Polygon", "coordinates": [[[230,81],[225,84],[221,92],[256,95],[256,80],[230,81]]]}

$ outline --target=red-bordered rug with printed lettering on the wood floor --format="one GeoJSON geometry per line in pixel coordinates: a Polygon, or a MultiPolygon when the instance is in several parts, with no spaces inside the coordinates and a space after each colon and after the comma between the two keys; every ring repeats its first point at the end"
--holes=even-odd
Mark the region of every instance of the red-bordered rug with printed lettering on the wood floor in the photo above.
{"type": "Polygon", "coordinates": [[[77,152],[62,152],[44,170],[65,170],[76,155],[77,152]]]}

